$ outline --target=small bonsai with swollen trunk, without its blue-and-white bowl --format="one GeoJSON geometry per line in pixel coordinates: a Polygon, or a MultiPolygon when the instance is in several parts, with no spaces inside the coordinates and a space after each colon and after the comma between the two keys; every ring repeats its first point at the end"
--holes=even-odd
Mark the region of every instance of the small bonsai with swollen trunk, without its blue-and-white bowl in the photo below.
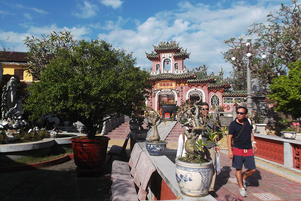
{"type": "Polygon", "coordinates": [[[164,123],[166,122],[166,119],[164,119],[163,117],[161,117],[160,115],[160,111],[154,111],[153,109],[148,109],[145,113],[144,116],[147,118],[148,121],[148,128],[151,128],[151,126],[154,126],[154,135],[150,136],[150,140],[149,142],[153,142],[153,143],[160,143],[160,136],[159,136],[159,132],[158,132],[158,126],[160,125],[160,123],[163,121],[164,123]]]}

